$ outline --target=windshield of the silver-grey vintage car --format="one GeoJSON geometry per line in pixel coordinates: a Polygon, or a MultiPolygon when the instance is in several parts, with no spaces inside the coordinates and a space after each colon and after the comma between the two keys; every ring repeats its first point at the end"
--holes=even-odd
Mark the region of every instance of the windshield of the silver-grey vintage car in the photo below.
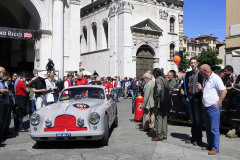
{"type": "Polygon", "coordinates": [[[92,87],[67,88],[61,93],[59,101],[82,98],[105,99],[104,90],[92,87]]]}

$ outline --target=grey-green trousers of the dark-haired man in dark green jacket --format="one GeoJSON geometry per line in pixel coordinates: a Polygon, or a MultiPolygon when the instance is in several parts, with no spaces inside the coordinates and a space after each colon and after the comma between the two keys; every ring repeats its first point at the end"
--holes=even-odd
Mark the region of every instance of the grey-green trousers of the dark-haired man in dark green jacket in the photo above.
{"type": "Polygon", "coordinates": [[[157,137],[167,138],[167,133],[168,133],[167,116],[161,116],[157,112],[155,126],[156,126],[157,137]]]}

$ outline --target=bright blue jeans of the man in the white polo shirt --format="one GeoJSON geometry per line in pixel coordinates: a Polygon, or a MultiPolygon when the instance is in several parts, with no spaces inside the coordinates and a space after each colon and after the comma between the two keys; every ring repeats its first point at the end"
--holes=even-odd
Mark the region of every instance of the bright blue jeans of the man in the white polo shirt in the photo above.
{"type": "Polygon", "coordinates": [[[220,143],[220,113],[222,107],[217,109],[215,105],[204,107],[204,122],[207,135],[207,143],[212,149],[219,151],[220,143]]]}

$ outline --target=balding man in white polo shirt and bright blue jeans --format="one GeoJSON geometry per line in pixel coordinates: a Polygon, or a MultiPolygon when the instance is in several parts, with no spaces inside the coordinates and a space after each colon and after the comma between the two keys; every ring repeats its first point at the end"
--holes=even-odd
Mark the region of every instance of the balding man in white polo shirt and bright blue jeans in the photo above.
{"type": "Polygon", "coordinates": [[[208,154],[214,155],[219,152],[220,113],[222,101],[226,96],[227,90],[221,78],[211,71],[209,65],[202,65],[200,74],[204,77],[203,86],[200,83],[197,83],[197,86],[203,92],[202,102],[204,105],[204,122],[208,143],[208,147],[202,147],[202,149],[210,150],[208,154]]]}

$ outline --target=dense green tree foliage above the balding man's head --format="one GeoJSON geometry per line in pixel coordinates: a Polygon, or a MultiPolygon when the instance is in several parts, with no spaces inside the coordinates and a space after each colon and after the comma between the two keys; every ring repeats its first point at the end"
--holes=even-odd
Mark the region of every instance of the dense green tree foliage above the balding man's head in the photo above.
{"type": "Polygon", "coordinates": [[[217,56],[218,50],[213,50],[211,48],[208,48],[207,50],[202,49],[201,56],[197,58],[199,66],[203,64],[208,64],[211,67],[212,71],[218,72],[221,69],[219,65],[222,64],[223,61],[217,56]]]}

